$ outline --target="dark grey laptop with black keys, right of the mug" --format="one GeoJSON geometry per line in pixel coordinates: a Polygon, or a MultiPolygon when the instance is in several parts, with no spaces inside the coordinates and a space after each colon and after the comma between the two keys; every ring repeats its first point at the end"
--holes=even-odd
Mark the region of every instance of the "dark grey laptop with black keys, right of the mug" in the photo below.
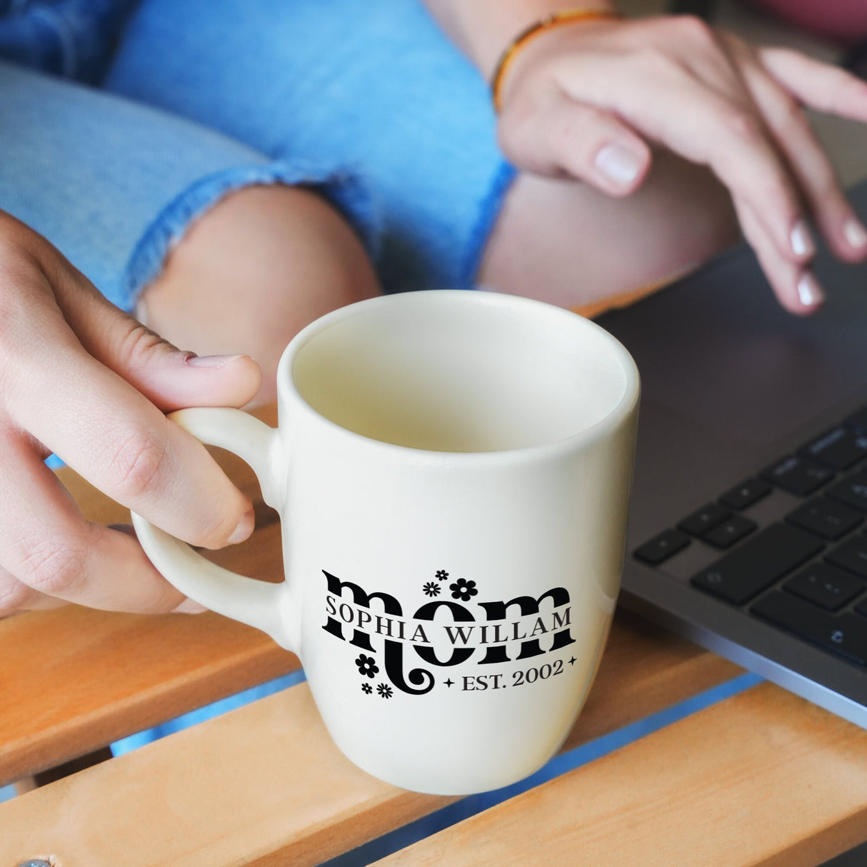
{"type": "Polygon", "coordinates": [[[816,273],[792,316],[742,246],[597,320],[642,375],[621,603],[867,728],[867,264],[816,273]]]}

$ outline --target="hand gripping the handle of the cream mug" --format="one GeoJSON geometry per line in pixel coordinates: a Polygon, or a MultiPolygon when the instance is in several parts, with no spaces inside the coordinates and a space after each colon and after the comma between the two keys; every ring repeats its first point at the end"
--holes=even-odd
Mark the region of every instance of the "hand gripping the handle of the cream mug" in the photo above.
{"type": "Polygon", "coordinates": [[[240,541],[250,501],[163,412],[242,406],[259,380],[251,358],[197,358],[160,340],[0,212],[0,616],[63,601],[141,612],[184,603],[134,537],[82,518],[43,460],[57,453],[191,544],[240,541]]]}

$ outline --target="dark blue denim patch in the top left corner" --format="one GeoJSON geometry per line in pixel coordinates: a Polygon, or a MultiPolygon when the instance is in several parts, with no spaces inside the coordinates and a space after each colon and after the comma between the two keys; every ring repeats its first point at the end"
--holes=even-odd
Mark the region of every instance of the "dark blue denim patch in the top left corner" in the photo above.
{"type": "Polygon", "coordinates": [[[98,81],[138,0],[0,0],[0,57],[98,81]]]}

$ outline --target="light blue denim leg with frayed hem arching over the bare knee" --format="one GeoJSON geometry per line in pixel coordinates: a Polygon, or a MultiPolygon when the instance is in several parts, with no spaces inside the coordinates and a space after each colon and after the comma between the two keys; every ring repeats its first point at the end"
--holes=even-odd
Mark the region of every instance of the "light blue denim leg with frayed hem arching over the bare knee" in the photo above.
{"type": "Polygon", "coordinates": [[[0,62],[0,208],[132,310],[190,221],[225,193],[316,186],[375,253],[377,220],[351,174],[270,160],[196,123],[0,62]]]}

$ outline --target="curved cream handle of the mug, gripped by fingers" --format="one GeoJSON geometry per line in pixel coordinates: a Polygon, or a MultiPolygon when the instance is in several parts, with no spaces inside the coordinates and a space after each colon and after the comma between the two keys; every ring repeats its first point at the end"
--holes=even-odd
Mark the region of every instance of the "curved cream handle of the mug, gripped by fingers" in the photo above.
{"type": "MultiPolygon", "coordinates": [[[[223,407],[179,409],[167,418],[206,445],[228,449],[246,461],[259,479],[262,499],[282,512],[285,455],[277,428],[239,409],[223,407]]],[[[133,525],[147,557],[181,593],[218,614],[261,629],[285,649],[297,652],[296,636],[287,627],[291,618],[286,616],[285,581],[255,581],[213,564],[135,512],[133,525]]]]}

